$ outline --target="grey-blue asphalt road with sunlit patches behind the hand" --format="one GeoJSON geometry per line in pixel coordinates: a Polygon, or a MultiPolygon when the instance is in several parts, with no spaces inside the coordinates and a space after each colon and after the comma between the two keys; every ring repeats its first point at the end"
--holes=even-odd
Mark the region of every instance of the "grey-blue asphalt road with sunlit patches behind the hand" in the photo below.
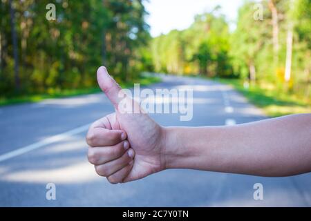
{"type": "MultiPolygon", "coordinates": [[[[194,89],[194,115],[151,115],[164,126],[216,126],[264,119],[229,86],[164,77],[150,88],[194,89]]],[[[109,184],[86,159],[87,125],[111,113],[102,94],[47,99],[0,108],[0,206],[311,206],[311,173],[256,177],[167,170],[126,184],[109,184]],[[46,199],[54,183],[56,200],[46,199]],[[263,184],[263,200],[253,186],[263,184]]],[[[139,131],[138,131],[139,133],[139,131]]]]}

